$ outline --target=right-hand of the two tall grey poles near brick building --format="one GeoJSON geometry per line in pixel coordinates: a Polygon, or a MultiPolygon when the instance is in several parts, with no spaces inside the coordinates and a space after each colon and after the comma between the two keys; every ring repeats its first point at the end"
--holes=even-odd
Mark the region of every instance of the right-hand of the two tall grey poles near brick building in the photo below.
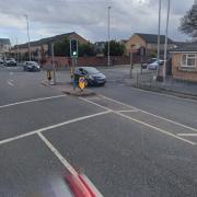
{"type": "Polygon", "coordinates": [[[164,65],[163,65],[163,83],[165,83],[165,77],[166,77],[166,53],[167,53],[170,7],[171,7],[171,0],[167,1],[167,18],[166,18],[166,28],[165,28],[164,65]]]}

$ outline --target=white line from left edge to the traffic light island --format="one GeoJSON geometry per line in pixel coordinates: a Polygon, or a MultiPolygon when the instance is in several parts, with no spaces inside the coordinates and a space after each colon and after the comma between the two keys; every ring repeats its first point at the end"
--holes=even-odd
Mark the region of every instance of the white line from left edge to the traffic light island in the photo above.
{"type": "Polygon", "coordinates": [[[10,103],[7,105],[0,105],[0,108],[4,108],[4,107],[10,107],[10,106],[14,106],[14,105],[21,105],[21,104],[25,104],[25,103],[33,103],[33,102],[39,102],[39,101],[46,101],[46,100],[54,100],[54,99],[58,99],[58,97],[66,97],[67,95],[61,94],[61,95],[57,95],[57,96],[49,96],[49,97],[39,97],[39,99],[34,99],[34,100],[26,100],[26,101],[22,101],[22,102],[16,102],[16,103],[10,103]]]}

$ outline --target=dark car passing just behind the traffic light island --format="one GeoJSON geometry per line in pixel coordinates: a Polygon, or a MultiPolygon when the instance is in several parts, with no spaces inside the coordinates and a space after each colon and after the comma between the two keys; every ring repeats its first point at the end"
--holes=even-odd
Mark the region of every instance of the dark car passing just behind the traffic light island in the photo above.
{"type": "Polygon", "coordinates": [[[78,82],[80,77],[84,77],[85,85],[104,85],[106,77],[94,67],[79,67],[74,70],[74,80],[78,82]]]}

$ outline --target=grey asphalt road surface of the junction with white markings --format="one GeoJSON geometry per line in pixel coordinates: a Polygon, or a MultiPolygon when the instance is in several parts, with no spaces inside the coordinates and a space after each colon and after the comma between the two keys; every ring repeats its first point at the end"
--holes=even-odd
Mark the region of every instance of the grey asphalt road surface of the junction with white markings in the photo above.
{"type": "Polygon", "coordinates": [[[81,99],[1,67],[0,196],[67,196],[69,163],[103,196],[196,197],[197,102],[127,86],[128,69],[81,99]]]}

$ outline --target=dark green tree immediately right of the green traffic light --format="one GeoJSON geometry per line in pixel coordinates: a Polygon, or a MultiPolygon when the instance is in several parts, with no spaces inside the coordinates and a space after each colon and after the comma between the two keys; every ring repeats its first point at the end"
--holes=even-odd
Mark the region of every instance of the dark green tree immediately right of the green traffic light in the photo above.
{"type": "Polygon", "coordinates": [[[88,44],[79,44],[78,54],[80,57],[82,56],[95,56],[94,47],[91,43],[88,44]]]}

